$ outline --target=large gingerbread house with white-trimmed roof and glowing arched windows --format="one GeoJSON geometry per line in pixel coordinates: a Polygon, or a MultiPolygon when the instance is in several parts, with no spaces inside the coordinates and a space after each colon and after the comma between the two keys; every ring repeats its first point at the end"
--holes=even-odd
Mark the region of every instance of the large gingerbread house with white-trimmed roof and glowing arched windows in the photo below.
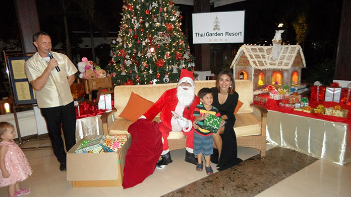
{"type": "Polygon", "coordinates": [[[306,67],[300,45],[281,45],[282,30],[276,31],[273,46],[240,47],[231,63],[234,79],[252,80],[254,90],[263,85],[294,86],[301,82],[301,69],[306,67]],[[279,46],[277,46],[279,45],[279,46]]]}

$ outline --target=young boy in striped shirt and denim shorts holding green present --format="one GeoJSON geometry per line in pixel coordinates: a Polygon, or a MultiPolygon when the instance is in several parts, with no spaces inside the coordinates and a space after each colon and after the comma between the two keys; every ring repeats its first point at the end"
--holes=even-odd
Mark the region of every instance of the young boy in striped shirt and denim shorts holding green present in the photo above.
{"type": "MultiPolygon", "coordinates": [[[[193,129],[194,132],[194,139],[193,139],[193,146],[194,146],[194,154],[197,155],[198,164],[196,166],[197,171],[201,171],[203,169],[203,162],[202,162],[202,154],[205,156],[206,161],[206,173],[212,174],[213,170],[210,165],[210,158],[213,152],[213,140],[212,140],[212,133],[206,129],[203,129],[203,122],[204,120],[210,115],[215,115],[216,117],[220,117],[220,114],[217,108],[212,106],[213,97],[212,91],[210,88],[204,87],[200,89],[198,92],[198,97],[202,104],[196,106],[194,110],[194,117],[197,121],[199,126],[198,129],[193,129]]],[[[222,120],[220,126],[223,126],[224,121],[222,120]]]]}

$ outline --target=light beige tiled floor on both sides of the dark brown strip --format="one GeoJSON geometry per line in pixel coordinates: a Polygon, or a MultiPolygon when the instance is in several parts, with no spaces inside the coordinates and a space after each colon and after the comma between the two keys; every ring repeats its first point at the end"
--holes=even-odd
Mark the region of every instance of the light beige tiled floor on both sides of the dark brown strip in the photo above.
{"type": "MultiPolygon", "coordinates": [[[[48,141],[28,142],[22,147],[37,143],[47,145],[48,141]]],[[[207,176],[205,171],[196,171],[195,165],[184,161],[184,150],[175,150],[171,151],[173,163],[164,169],[156,169],[144,182],[132,188],[74,188],[71,182],[66,181],[66,172],[59,170],[59,162],[51,148],[24,152],[33,168],[32,176],[21,183],[23,188],[30,187],[32,190],[26,196],[160,196],[207,176]]],[[[258,151],[239,147],[238,153],[240,158],[247,159],[258,151]]],[[[212,167],[215,169],[214,165],[212,167]]],[[[318,160],[257,196],[351,196],[350,176],[350,165],[340,166],[318,160]]],[[[7,196],[6,187],[0,188],[0,196],[7,196]]]]}

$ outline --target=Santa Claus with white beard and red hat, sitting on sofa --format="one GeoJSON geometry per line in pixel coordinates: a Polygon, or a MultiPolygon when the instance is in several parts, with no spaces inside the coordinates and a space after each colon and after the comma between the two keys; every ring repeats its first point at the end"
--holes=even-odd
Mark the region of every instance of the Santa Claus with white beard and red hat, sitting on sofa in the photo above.
{"type": "Polygon", "coordinates": [[[157,102],[145,112],[141,118],[152,121],[161,112],[159,130],[163,138],[163,151],[161,160],[157,162],[157,168],[163,168],[172,162],[168,148],[167,137],[169,132],[183,132],[187,136],[185,161],[197,164],[197,158],[193,152],[193,132],[192,122],[194,121],[193,112],[200,103],[195,95],[194,76],[189,70],[182,69],[178,80],[178,87],[165,91],[157,102]],[[172,111],[178,114],[179,118],[172,116],[172,111]]]}

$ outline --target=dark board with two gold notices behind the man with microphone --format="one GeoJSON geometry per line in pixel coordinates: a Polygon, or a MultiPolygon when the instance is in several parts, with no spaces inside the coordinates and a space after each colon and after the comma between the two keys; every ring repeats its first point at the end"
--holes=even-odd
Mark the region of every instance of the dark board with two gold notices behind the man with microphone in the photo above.
{"type": "Polygon", "coordinates": [[[35,92],[24,71],[25,62],[33,53],[5,54],[14,106],[36,105],[35,92]]]}

